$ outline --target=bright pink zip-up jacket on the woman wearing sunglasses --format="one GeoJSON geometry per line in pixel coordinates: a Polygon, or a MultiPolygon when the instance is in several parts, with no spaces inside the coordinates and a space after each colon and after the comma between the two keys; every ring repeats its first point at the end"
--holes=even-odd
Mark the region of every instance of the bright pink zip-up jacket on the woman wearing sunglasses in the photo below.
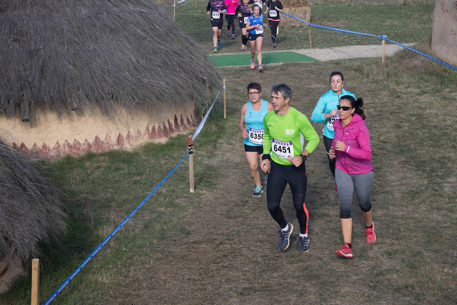
{"type": "Polygon", "coordinates": [[[363,174],[373,171],[371,164],[370,133],[362,117],[356,113],[352,115],[352,121],[345,127],[338,119],[333,123],[335,141],[342,141],[346,144],[343,151],[336,151],[337,160],[335,167],[346,174],[363,174]]]}

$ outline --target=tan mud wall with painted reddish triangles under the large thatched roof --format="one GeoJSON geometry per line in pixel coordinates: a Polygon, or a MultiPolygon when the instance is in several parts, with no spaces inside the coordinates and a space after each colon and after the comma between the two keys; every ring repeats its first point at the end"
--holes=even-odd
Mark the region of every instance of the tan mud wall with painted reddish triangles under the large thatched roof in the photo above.
{"type": "Polygon", "coordinates": [[[132,149],[176,132],[189,130],[195,121],[193,103],[172,107],[160,114],[119,108],[107,116],[98,109],[71,111],[63,116],[40,110],[37,120],[0,114],[0,137],[17,151],[44,158],[132,149]]]}

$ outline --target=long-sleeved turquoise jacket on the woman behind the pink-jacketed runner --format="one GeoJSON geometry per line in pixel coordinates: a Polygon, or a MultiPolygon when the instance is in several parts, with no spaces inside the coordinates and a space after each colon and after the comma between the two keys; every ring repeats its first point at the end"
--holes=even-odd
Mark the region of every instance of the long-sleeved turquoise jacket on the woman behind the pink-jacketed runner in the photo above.
{"type": "Polygon", "coordinates": [[[336,94],[333,90],[322,94],[322,96],[317,101],[316,107],[313,110],[313,114],[311,115],[311,121],[313,122],[325,121],[324,128],[322,129],[322,134],[330,139],[333,139],[335,136],[335,131],[332,128],[332,123],[336,120],[336,118],[330,117],[326,119],[323,117],[323,115],[337,109],[337,105],[340,101],[341,96],[352,95],[355,98],[355,95],[351,92],[344,90],[344,88],[342,90],[343,91],[340,94],[336,94]]]}

